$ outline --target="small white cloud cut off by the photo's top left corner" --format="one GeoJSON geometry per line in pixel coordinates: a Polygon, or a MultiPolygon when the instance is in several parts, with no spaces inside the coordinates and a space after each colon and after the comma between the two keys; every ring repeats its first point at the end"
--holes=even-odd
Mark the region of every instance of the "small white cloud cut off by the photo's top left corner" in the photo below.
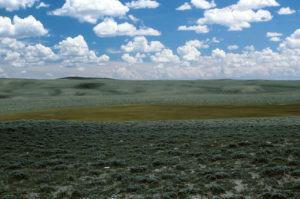
{"type": "Polygon", "coordinates": [[[7,11],[15,11],[21,8],[26,9],[32,7],[39,0],[0,0],[0,9],[7,11]]]}

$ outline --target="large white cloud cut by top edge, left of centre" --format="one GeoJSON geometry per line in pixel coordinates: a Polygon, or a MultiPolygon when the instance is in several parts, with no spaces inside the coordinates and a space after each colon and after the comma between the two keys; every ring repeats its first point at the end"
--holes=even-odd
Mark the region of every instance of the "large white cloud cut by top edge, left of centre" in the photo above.
{"type": "Polygon", "coordinates": [[[129,8],[119,0],[66,0],[62,8],[51,12],[57,16],[70,16],[80,22],[97,23],[103,17],[125,16],[129,8]]]}

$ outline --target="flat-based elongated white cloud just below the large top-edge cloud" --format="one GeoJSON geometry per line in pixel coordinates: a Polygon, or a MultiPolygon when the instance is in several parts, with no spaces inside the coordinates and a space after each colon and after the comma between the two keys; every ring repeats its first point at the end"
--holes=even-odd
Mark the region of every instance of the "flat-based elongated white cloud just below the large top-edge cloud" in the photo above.
{"type": "Polygon", "coordinates": [[[152,35],[159,36],[161,33],[153,28],[141,27],[137,29],[130,23],[118,24],[112,18],[106,18],[103,22],[94,27],[94,32],[98,37],[114,37],[114,36],[138,36],[152,35]]]}

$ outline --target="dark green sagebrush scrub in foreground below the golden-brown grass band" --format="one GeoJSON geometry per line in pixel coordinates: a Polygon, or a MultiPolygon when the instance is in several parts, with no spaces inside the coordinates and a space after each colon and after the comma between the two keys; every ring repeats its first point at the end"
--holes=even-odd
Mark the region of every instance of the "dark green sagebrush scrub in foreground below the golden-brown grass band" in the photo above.
{"type": "Polygon", "coordinates": [[[300,118],[0,123],[0,198],[298,199],[300,118]]]}

